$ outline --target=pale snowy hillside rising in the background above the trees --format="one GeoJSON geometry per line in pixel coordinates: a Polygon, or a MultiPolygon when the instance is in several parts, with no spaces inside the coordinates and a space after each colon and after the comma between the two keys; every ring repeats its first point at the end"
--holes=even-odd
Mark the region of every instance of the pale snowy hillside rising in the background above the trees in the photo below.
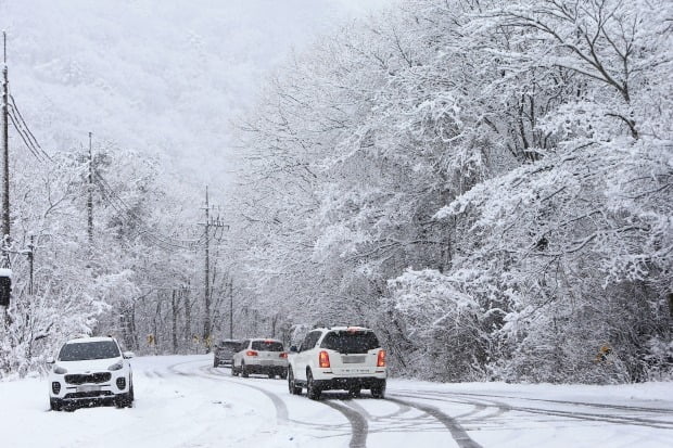
{"type": "Polygon", "coordinates": [[[0,1],[0,29],[12,93],[45,148],[78,148],[92,131],[226,183],[238,164],[230,120],[274,67],[383,3],[0,1]]]}

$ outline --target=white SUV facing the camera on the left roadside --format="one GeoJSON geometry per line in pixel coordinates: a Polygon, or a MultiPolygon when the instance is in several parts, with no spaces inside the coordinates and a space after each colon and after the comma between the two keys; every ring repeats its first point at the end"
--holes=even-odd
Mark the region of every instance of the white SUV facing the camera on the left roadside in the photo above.
{"type": "Polygon", "coordinates": [[[122,354],[113,337],[82,337],[63,344],[49,373],[49,404],[59,411],[65,405],[114,401],[131,407],[134,377],[128,361],[132,353],[122,354]]]}

